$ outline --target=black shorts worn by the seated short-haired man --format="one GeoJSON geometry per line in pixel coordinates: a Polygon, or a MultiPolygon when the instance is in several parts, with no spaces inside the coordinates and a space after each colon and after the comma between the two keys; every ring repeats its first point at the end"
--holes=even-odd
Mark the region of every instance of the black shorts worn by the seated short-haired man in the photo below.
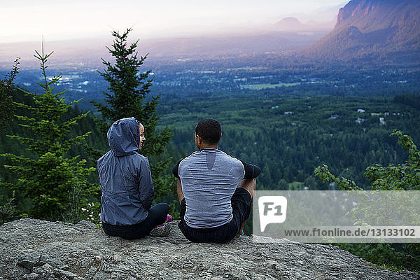
{"type": "Polygon", "coordinates": [[[181,200],[179,229],[188,240],[193,242],[225,243],[234,239],[241,230],[242,223],[249,218],[252,197],[244,188],[237,188],[231,202],[233,218],[230,223],[216,228],[190,228],[184,220],[186,215],[186,199],[184,198],[181,200]]]}

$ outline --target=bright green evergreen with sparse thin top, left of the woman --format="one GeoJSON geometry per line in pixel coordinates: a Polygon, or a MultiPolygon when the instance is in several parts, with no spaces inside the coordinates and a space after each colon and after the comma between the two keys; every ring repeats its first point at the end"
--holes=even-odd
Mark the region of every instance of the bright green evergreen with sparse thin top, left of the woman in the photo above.
{"type": "Polygon", "coordinates": [[[29,158],[22,154],[5,153],[2,156],[10,158],[15,165],[5,165],[15,173],[18,183],[3,184],[16,190],[20,197],[31,200],[29,215],[34,218],[48,220],[64,220],[76,222],[79,220],[81,207],[87,203],[88,195],[97,192],[97,187],[89,186],[87,176],[94,168],[86,168],[85,160],[78,157],[66,158],[71,146],[80,144],[89,132],[77,137],[69,137],[71,127],[78,120],[85,118],[87,113],[80,114],[64,121],[63,114],[69,111],[73,104],[64,103],[64,92],[52,93],[54,84],[59,82],[59,76],[48,78],[45,70],[48,57],[43,51],[36,51],[34,55],[41,61],[43,94],[26,92],[34,99],[34,106],[28,104],[17,105],[29,110],[32,116],[17,116],[20,125],[31,131],[34,137],[21,135],[10,136],[27,146],[27,150],[34,155],[29,158]]]}

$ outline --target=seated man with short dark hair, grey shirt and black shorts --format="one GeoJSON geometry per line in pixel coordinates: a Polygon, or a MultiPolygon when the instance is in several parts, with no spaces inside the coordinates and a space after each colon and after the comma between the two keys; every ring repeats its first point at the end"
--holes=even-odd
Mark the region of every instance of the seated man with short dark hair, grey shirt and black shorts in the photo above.
{"type": "Polygon", "coordinates": [[[179,228],[193,242],[225,243],[243,234],[260,169],[218,150],[221,125],[204,119],[195,127],[195,151],[179,160],[179,228]]]}

